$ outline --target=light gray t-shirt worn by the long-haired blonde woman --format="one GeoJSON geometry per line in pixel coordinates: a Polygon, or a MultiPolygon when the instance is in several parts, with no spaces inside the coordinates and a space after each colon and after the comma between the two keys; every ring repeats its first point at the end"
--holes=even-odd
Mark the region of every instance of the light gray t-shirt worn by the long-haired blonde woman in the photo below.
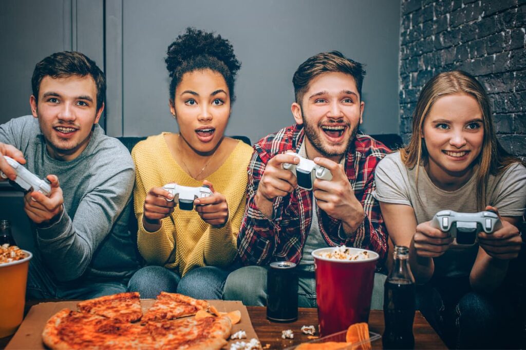
{"type": "MultiPolygon", "coordinates": [[[[434,185],[422,166],[416,183],[416,167],[408,169],[400,153],[387,155],[375,171],[378,201],[409,205],[414,210],[417,224],[429,221],[440,210],[476,213],[476,178],[473,176],[461,188],[446,191],[434,185]]],[[[497,176],[490,176],[486,190],[487,205],[497,207],[501,216],[522,216],[526,204],[526,168],[521,164],[508,167],[497,176]]],[[[435,273],[454,277],[469,275],[477,256],[478,246],[469,248],[451,246],[439,258],[434,258],[435,273]]]]}

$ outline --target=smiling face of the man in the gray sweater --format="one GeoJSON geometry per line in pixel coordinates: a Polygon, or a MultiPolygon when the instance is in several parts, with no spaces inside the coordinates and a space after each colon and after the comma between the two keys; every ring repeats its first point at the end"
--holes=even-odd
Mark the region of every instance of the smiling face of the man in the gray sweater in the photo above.
{"type": "Polygon", "coordinates": [[[38,119],[49,155],[62,161],[74,160],[89,143],[97,111],[97,87],[92,76],[52,78],[40,83],[38,102],[29,99],[33,116],[38,119]]]}

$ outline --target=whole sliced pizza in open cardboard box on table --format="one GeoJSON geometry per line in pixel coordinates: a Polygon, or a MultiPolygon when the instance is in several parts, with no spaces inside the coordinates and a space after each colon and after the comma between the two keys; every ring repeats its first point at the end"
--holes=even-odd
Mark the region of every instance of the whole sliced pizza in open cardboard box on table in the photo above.
{"type": "Polygon", "coordinates": [[[192,310],[208,309],[208,303],[174,293],[161,293],[157,298],[141,322],[134,322],[142,315],[137,317],[138,293],[80,302],[78,311],[63,309],[53,315],[44,327],[42,339],[52,349],[213,350],[227,345],[232,330],[228,315],[177,318],[185,313],[195,314],[192,310]],[[173,307],[174,312],[167,312],[167,307],[173,307]],[[146,315],[150,315],[149,320],[144,320],[146,315]]]}

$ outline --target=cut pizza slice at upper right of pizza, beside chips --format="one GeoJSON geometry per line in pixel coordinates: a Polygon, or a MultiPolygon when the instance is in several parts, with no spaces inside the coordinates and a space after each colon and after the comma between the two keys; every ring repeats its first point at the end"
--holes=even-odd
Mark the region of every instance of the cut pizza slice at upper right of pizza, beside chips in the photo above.
{"type": "Polygon", "coordinates": [[[205,300],[197,300],[177,293],[161,292],[155,303],[146,311],[141,322],[173,320],[178,317],[191,316],[199,310],[208,310],[210,305],[205,300]]]}

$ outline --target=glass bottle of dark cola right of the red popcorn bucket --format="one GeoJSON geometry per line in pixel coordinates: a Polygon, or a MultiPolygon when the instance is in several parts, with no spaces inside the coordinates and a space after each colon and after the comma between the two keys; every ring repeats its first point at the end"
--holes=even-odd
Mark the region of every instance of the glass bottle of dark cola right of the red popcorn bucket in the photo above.
{"type": "Polygon", "coordinates": [[[395,263],[383,293],[385,331],[384,349],[413,349],[413,320],[416,311],[416,287],[409,268],[409,249],[395,247],[395,263]]]}

